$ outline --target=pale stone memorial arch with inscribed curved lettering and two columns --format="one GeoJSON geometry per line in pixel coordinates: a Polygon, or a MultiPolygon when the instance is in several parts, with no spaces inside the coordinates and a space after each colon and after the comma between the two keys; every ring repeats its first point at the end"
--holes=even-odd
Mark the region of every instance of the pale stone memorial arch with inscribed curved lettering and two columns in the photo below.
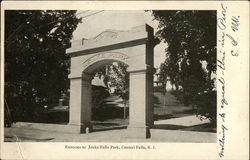
{"type": "Polygon", "coordinates": [[[129,67],[129,126],[127,136],[149,138],[153,120],[154,46],[153,28],[145,24],[129,31],[107,30],[92,39],[72,41],[70,56],[71,132],[91,130],[91,80],[96,68],[120,61],[129,67]]]}

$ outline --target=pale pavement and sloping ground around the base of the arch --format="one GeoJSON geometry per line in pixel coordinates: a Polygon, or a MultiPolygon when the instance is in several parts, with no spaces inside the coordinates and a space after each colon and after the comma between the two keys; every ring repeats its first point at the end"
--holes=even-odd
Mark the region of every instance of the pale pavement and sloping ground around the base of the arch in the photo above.
{"type": "MultiPolygon", "coordinates": [[[[89,134],[66,134],[28,128],[5,128],[5,141],[48,142],[215,142],[216,128],[208,120],[201,121],[191,106],[180,104],[174,96],[155,93],[158,97],[154,108],[154,124],[150,139],[128,139],[128,119],[110,118],[93,121],[94,130],[89,134]],[[164,100],[165,97],[165,100],[164,100]],[[112,135],[112,136],[110,136],[112,135]]],[[[121,100],[110,97],[107,104],[121,107],[121,100]]]]}

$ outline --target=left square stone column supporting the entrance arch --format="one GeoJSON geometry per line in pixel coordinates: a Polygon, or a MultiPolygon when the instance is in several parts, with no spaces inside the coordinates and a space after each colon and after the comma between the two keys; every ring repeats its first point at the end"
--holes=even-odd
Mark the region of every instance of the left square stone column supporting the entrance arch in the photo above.
{"type": "Polygon", "coordinates": [[[70,79],[70,111],[69,132],[85,133],[91,125],[91,80],[93,76],[83,74],[82,77],[70,79]]]}

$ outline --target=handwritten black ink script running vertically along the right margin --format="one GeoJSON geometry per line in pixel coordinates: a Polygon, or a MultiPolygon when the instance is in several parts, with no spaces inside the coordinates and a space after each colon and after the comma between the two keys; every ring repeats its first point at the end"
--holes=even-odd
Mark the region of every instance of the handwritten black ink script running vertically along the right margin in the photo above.
{"type": "MultiPolygon", "coordinates": [[[[227,57],[238,57],[239,53],[239,38],[238,31],[240,29],[240,16],[230,15],[230,8],[221,3],[221,9],[218,12],[217,26],[218,31],[221,32],[221,36],[218,37],[218,55],[217,55],[217,68],[218,73],[221,76],[218,77],[218,89],[220,88],[220,93],[218,94],[220,111],[219,120],[221,120],[221,125],[219,128],[219,156],[223,158],[225,156],[225,144],[227,141],[227,132],[229,128],[226,125],[227,115],[226,110],[230,105],[226,99],[227,95],[227,82],[225,78],[226,72],[226,59],[227,57]]],[[[218,74],[219,75],[219,74],[218,74]]]]}

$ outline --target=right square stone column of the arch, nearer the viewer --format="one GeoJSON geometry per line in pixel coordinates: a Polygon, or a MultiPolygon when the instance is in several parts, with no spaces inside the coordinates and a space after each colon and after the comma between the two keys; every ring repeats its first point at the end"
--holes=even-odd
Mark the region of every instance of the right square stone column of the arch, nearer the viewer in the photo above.
{"type": "Polygon", "coordinates": [[[152,67],[129,69],[129,138],[150,138],[149,127],[153,125],[152,67]]]}

